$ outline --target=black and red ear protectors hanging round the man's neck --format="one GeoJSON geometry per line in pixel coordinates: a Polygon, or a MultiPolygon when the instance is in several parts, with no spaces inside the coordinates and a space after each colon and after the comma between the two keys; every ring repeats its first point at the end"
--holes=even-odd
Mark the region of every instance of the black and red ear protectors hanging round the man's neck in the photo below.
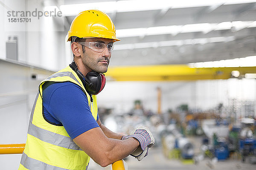
{"type": "Polygon", "coordinates": [[[105,86],[106,77],[102,73],[97,73],[96,71],[90,71],[89,73],[84,76],[81,71],[77,68],[76,62],[73,61],[70,64],[70,68],[76,72],[78,77],[81,79],[84,88],[89,94],[99,94],[105,86]]]}

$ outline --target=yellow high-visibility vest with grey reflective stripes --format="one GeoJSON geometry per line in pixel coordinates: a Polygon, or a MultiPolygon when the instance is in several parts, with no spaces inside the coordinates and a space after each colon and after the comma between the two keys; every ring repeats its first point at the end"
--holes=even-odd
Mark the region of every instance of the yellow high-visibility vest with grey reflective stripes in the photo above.
{"type": "Polygon", "coordinates": [[[26,146],[18,170],[86,170],[90,157],[73,142],[63,125],[52,125],[44,119],[42,86],[45,82],[72,82],[79,85],[87,95],[94,119],[97,119],[96,96],[92,95],[91,102],[81,80],[69,66],[44,79],[39,85],[32,108],[26,146]]]}

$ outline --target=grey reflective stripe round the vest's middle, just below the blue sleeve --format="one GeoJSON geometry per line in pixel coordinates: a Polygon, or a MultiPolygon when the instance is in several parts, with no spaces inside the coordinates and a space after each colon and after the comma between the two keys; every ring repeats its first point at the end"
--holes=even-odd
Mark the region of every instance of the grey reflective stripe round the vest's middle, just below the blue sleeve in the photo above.
{"type": "Polygon", "coordinates": [[[28,134],[35,136],[41,141],[54,144],[56,146],[65,147],[67,149],[81,150],[79,146],[70,137],[63,136],[57,133],[50,132],[48,130],[42,129],[35,126],[32,122],[29,121],[29,130],[28,134]]]}

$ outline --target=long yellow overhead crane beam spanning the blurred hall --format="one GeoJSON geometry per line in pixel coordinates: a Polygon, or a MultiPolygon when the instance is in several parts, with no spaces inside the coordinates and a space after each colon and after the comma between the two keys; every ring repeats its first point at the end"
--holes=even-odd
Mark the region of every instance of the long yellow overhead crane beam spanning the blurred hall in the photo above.
{"type": "Polygon", "coordinates": [[[106,77],[115,81],[229,79],[232,71],[239,71],[240,75],[256,73],[256,67],[190,68],[188,65],[109,67],[106,77]]]}

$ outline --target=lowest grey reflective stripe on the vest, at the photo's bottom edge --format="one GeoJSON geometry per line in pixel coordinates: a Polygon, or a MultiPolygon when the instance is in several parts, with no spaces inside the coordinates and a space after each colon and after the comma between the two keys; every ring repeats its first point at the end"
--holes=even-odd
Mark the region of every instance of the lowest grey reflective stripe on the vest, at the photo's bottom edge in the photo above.
{"type": "Polygon", "coordinates": [[[20,164],[22,164],[26,169],[29,170],[68,170],[61,167],[49,165],[36,159],[29,158],[24,152],[22,153],[20,164]]]}

